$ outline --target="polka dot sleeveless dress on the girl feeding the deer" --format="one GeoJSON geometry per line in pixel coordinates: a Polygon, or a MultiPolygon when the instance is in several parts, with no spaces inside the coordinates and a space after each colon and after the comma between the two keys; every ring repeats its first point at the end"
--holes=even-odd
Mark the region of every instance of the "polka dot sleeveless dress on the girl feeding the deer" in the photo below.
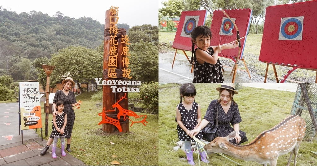
{"type": "MultiPolygon", "coordinates": [[[[179,103],[178,106],[178,111],[181,114],[181,119],[184,124],[184,126],[189,129],[193,130],[194,127],[197,125],[197,109],[198,109],[198,103],[193,102],[193,105],[190,110],[186,110],[184,105],[182,103],[179,103]]],[[[180,141],[190,141],[192,140],[194,142],[194,139],[192,139],[190,136],[186,134],[186,132],[179,126],[177,125],[178,130],[178,139],[180,141]]],[[[199,140],[203,138],[203,133],[200,131],[197,135],[196,138],[199,140]]]]}

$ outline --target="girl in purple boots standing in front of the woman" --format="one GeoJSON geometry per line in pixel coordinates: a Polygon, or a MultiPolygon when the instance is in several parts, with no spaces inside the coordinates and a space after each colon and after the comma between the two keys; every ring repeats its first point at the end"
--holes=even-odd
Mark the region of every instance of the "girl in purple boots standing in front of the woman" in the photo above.
{"type": "Polygon", "coordinates": [[[53,116],[53,126],[52,126],[52,136],[54,136],[53,147],[52,147],[52,157],[56,158],[56,145],[58,138],[61,138],[61,155],[66,156],[65,153],[65,136],[67,136],[67,115],[64,110],[64,102],[56,102],[57,115],[53,116]]]}

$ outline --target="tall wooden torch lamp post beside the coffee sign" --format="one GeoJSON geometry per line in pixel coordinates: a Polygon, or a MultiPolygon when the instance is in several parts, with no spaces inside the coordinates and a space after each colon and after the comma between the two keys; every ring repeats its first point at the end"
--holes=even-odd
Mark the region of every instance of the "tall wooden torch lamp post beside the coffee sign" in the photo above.
{"type": "Polygon", "coordinates": [[[45,106],[45,136],[49,135],[49,76],[54,70],[55,66],[43,64],[42,68],[46,73],[46,106],[45,106]]]}

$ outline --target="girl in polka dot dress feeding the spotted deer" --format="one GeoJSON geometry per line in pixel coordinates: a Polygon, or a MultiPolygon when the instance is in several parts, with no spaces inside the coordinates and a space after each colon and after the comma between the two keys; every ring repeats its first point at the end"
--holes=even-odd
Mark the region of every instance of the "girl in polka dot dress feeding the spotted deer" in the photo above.
{"type": "MultiPolygon", "coordinates": [[[[193,152],[191,151],[191,140],[194,139],[189,136],[189,132],[196,128],[201,121],[200,105],[195,102],[196,88],[192,83],[184,83],[179,88],[180,103],[176,107],[176,120],[178,139],[184,141],[184,149],[187,156],[188,163],[195,165],[193,159],[193,152]]],[[[203,137],[202,132],[196,135],[199,140],[203,137]]],[[[199,145],[198,149],[202,148],[199,145]]],[[[209,163],[206,159],[206,154],[200,151],[201,160],[205,163],[209,163]]]]}

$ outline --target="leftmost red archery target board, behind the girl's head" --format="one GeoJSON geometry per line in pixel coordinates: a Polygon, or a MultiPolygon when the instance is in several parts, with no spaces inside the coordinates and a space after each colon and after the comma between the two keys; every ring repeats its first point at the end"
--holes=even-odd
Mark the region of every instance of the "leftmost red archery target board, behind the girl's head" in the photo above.
{"type": "Polygon", "coordinates": [[[191,51],[191,32],[205,24],[206,16],[206,10],[182,11],[172,48],[191,51]]]}

